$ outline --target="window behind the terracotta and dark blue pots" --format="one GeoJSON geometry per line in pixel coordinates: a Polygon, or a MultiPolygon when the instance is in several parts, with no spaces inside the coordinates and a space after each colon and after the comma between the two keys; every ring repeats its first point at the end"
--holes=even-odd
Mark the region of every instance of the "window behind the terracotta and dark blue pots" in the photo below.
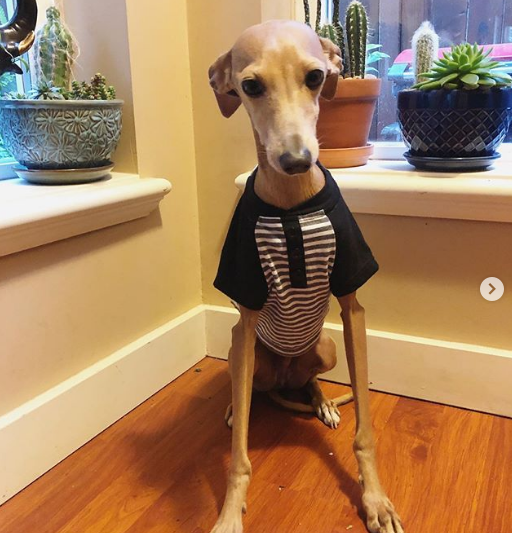
{"type": "MultiPolygon", "coordinates": [[[[334,0],[336,1],[336,0],[334,0]]],[[[412,85],[410,54],[413,33],[424,20],[430,20],[440,36],[440,46],[450,47],[467,41],[478,44],[512,43],[512,10],[509,0],[361,0],[369,17],[368,40],[381,44],[390,56],[372,66],[379,71],[382,92],[370,137],[374,141],[401,141],[396,122],[396,95],[412,85]]],[[[324,15],[330,4],[324,0],[324,15]]],[[[342,23],[350,0],[340,1],[342,23]]],[[[316,2],[310,0],[312,17],[316,2]]],[[[295,18],[304,20],[302,0],[295,1],[295,18]]],[[[512,45],[495,50],[503,70],[512,73],[512,45]]],[[[506,141],[512,142],[512,131],[506,141]]]]}

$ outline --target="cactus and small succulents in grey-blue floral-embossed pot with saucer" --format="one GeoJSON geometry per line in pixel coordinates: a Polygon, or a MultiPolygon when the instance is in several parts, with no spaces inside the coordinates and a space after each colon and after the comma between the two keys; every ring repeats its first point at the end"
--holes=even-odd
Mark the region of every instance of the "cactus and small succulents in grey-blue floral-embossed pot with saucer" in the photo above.
{"type": "Polygon", "coordinates": [[[33,90],[0,100],[0,136],[35,183],[83,183],[104,177],[121,134],[122,105],[105,77],[71,80],[76,43],[54,7],[37,32],[33,90]]]}

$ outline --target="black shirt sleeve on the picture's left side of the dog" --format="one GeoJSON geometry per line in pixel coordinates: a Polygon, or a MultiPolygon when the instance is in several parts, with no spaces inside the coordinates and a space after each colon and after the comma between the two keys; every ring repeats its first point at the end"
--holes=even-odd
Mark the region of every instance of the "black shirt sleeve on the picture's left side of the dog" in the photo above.
{"type": "Polygon", "coordinates": [[[242,215],[238,203],[224,242],[214,286],[234,302],[260,310],[267,301],[268,288],[256,246],[256,220],[242,215]]]}

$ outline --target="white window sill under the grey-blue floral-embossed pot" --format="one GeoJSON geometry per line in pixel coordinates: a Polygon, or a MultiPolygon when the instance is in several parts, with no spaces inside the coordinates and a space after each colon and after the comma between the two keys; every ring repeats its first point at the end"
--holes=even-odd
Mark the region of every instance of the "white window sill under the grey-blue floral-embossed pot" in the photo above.
{"type": "Polygon", "coordinates": [[[83,185],[0,181],[0,257],[145,217],[170,190],[165,179],[117,172],[83,185]]]}

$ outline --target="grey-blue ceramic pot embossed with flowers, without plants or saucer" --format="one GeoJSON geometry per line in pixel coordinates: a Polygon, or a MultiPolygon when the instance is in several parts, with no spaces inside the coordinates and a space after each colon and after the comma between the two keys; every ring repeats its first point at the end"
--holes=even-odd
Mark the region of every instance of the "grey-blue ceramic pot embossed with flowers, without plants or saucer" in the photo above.
{"type": "Polygon", "coordinates": [[[0,135],[30,169],[102,167],[119,142],[122,106],[122,100],[0,100],[0,135]]]}

